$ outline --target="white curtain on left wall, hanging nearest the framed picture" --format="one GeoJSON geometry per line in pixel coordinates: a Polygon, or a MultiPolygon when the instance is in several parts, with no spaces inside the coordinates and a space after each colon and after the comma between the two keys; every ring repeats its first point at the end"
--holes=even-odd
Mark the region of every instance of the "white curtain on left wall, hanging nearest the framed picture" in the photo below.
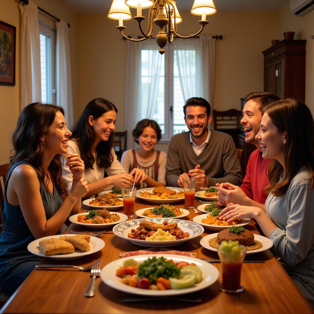
{"type": "Polygon", "coordinates": [[[21,108],[41,101],[38,8],[32,1],[19,3],[21,24],[21,108]]]}

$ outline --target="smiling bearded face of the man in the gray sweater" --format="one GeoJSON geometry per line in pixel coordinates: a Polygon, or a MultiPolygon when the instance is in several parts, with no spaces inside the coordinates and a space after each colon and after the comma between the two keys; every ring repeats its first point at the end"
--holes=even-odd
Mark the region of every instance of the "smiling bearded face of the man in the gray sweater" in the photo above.
{"type": "Polygon", "coordinates": [[[203,106],[187,106],[184,121],[192,136],[199,138],[207,131],[212,116],[207,116],[206,108],[203,106]]]}

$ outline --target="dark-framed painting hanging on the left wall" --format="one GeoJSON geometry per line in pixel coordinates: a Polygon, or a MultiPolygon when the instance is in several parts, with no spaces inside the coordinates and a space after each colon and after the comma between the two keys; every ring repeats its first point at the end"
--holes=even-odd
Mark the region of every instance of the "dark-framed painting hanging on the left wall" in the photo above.
{"type": "Polygon", "coordinates": [[[0,21],[0,84],[15,85],[15,30],[0,21]]]}

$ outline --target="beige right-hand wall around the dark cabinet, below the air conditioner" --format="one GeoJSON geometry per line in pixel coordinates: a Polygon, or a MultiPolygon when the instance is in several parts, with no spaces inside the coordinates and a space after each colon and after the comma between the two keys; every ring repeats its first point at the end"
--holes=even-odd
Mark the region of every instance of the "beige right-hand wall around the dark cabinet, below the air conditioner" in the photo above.
{"type": "Polygon", "coordinates": [[[275,39],[284,39],[284,32],[295,32],[294,39],[306,40],[306,80],[305,80],[305,103],[314,113],[313,92],[313,39],[314,35],[314,10],[302,17],[295,16],[290,11],[289,2],[278,12],[278,32],[275,39]]]}

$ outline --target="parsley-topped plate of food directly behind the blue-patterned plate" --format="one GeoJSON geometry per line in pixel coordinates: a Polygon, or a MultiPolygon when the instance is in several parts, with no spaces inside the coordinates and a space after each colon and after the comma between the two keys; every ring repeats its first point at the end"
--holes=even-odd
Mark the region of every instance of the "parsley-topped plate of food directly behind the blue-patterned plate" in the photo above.
{"type": "Polygon", "coordinates": [[[174,205],[162,204],[160,206],[139,209],[135,214],[142,218],[183,218],[189,215],[190,212],[174,205]]]}

